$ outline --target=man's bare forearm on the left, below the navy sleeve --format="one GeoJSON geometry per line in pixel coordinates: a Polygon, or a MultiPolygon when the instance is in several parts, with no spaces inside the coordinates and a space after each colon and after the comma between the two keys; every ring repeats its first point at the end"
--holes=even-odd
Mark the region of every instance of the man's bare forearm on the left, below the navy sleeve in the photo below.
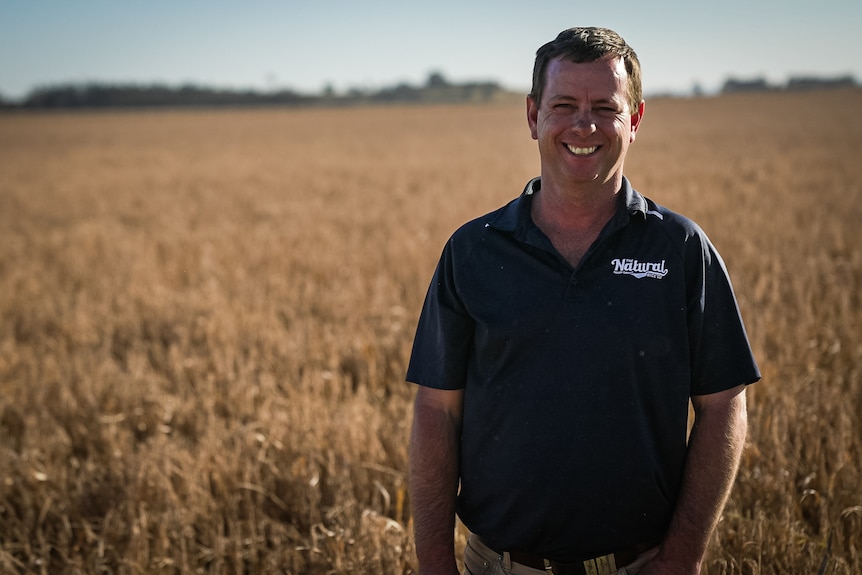
{"type": "Polygon", "coordinates": [[[458,492],[464,391],[419,386],[410,436],[410,499],[422,575],[457,574],[458,492]]]}

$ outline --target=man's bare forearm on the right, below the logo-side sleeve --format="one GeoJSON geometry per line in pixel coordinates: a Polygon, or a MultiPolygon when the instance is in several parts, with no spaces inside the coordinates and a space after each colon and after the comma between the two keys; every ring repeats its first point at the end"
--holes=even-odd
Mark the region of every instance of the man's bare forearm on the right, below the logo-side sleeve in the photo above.
{"type": "Polygon", "coordinates": [[[739,469],[748,426],[745,386],[692,397],[692,404],[694,427],[676,510],[658,555],[641,575],[700,573],[739,469]]]}

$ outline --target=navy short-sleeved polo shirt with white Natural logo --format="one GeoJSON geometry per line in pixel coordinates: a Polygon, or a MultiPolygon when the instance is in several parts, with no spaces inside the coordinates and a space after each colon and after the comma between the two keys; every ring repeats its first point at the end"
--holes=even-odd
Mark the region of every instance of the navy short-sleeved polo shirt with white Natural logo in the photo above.
{"type": "Polygon", "coordinates": [[[665,533],[688,401],[760,378],[724,263],[628,180],[576,269],[532,180],[446,244],[407,380],[464,389],[458,513],[494,549],[567,561],[665,533]]]}

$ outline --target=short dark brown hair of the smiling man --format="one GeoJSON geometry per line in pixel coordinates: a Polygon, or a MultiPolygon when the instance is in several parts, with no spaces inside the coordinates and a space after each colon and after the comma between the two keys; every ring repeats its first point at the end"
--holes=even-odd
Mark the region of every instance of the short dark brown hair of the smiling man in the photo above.
{"type": "Polygon", "coordinates": [[[548,63],[562,58],[575,63],[594,62],[602,58],[622,58],[628,73],[629,108],[637,110],[643,99],[641,65],[637,54],[623,38],[607,28],[570,28],[536,52],[533,88],[530,97],[541,105],[547,82],[548,63]]]}

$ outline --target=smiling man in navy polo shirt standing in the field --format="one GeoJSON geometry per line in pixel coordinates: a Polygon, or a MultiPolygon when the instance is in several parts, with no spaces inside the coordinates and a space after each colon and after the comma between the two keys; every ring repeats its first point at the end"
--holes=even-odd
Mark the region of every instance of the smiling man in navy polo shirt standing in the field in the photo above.
{"type": "Polygon", "coordinates": [[[457,572],[456,512],[468,573],[700,571],[760,374],[712,244],[623,176],[643,115],[615,32],[537,52],[541,176],[450,238],[408,368],[424,574],[457,572]]]}

